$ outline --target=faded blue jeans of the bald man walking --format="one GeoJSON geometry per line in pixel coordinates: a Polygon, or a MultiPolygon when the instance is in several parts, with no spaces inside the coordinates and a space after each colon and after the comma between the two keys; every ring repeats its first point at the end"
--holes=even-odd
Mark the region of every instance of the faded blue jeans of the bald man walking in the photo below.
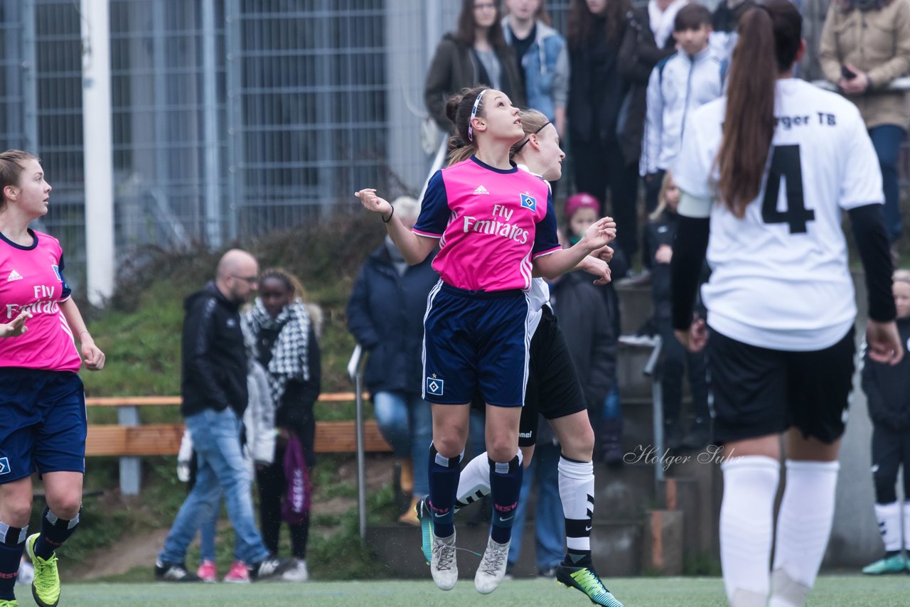
{"type": "Polygon", "coordinates": [[[235,558],[248,564],[268,558],[253,518],[250,472],[240,449],[241,421],[228,407],[204,410],[187,417],[186,423],[197,454],[196,484],[177,512],[158,558],[166,562],[186,559],[189,543],[202,523],[212,519],[222,493],[236,536],[235,558]]]}

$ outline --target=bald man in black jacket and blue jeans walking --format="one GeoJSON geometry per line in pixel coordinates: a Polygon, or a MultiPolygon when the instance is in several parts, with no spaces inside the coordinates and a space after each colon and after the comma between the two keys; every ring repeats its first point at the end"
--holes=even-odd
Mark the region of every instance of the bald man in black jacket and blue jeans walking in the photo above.
{"type": "Polygon", "coordinates": [[[231,249],[218,262],[215,279],[184,302],[180,413],[197,453],[197,476],[158,554],[155,577],[162,582],[201,581],[187,572],[187,547],[200,523],[220,507],[222,494],[236,534],[236,560],[248,567],[246,581],[278,577],[296,564],[274,557],[262,542],[240,444],[248,391],[239,309],[258,287],[258,273],[256,258],[231,249]]]}

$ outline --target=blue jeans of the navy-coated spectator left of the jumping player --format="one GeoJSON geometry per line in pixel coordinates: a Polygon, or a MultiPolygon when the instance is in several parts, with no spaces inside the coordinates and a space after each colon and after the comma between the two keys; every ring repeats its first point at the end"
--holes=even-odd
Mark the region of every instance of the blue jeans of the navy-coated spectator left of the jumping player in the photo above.
{"type": "Polygon", "coordinates": [[[433,441],[433,411],[420,394],[377,392],[373,410],[382,437],[396,457],[410,457],[414,465],[414,495],[430,492],[427,450],[433,441]]]}

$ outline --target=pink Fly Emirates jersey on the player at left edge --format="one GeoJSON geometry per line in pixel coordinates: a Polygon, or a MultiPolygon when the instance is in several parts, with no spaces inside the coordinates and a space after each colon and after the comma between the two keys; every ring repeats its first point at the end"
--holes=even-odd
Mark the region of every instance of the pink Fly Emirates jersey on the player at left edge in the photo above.
{"type": "Polygon", "coordinates": [[[35,242],[28,247],[0,234],[0,322],[32,314],[24,334],[0,339],[0,367],[76,372],[82,361],[59,306],[70,295],[63,249],[56,238],[29,232],[35,242]]]}

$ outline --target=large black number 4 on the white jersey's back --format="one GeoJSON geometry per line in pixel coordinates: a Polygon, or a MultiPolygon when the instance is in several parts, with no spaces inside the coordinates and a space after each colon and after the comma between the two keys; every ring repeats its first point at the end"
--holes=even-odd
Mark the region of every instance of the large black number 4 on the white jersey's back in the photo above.
{"type": "Polygon", "coordinates": [[[762,219],[764,223],[790,224],[791,234],[805,234],[805,224],[815,218],[815,212],[806,208],[803,200],[803,166],[799,159],[799,146],[774,146],[771,148],[771,167],[764,186],[762,219]],[[781,191],[781,177],[787,191],[787,207],[777,210],[777,197],[781,191]]]}

